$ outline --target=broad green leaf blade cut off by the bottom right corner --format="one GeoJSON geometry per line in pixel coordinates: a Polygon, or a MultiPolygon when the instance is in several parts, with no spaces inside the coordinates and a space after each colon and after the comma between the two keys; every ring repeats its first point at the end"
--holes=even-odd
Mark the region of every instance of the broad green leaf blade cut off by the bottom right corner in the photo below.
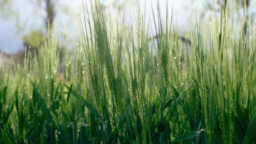
{"type": "Polygon", "coordinates": [[[247,128],[246,135],[244,136],[243,144],[252,144],[253,137],[256,134],[256,113],[247,128]]]}

